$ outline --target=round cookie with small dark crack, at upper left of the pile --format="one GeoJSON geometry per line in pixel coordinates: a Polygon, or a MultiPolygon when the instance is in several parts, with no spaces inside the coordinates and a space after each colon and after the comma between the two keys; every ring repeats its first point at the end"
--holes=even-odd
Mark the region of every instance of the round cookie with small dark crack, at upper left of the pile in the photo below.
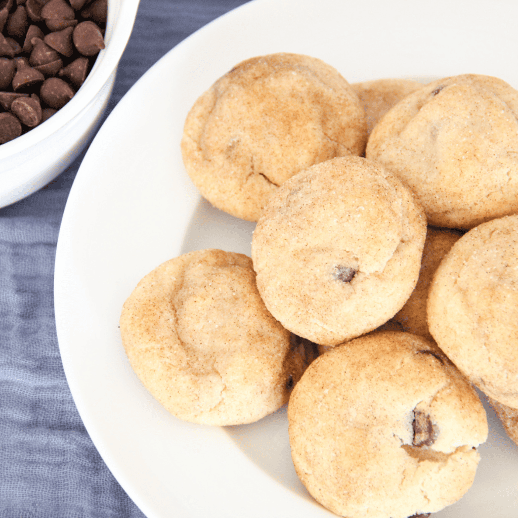
{"type": "Polygon", "coordinates": [[[257,221],[296,172],[365,150],[365,113],[332,66],[301,54],[252,57],[200,96],[184,124],[185,168],[209,202],[257,221]]]}

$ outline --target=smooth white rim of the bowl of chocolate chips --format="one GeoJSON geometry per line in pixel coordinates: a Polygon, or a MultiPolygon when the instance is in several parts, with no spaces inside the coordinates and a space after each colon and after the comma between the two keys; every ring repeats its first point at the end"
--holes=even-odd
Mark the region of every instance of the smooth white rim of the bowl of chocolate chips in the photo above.
{"type": "Polygon", "coordinates": [[[45,124],[40,124],[31,131],[0,145],[0,161],[37,145],[59,131],[89,106],[119,64],[133,31],[139,2],[140,0],[108,0],[106,48],[97,55],[94,67],[81,88],[63,108],[47,119],[45,124]]]}

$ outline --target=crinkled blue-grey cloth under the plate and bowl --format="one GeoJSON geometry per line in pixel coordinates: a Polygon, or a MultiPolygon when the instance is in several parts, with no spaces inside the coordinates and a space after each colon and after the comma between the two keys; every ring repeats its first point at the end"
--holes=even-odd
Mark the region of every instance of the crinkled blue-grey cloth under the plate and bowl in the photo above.
{"type": "MultiPolygon", "coordinates": [[[[141,0],[107,114],[169,49],[244,0],[141,0]]],[[[92,443],[57,344],[53,271],[84,153],[0,209],[0,518],[142,518],[92,443]]]]}

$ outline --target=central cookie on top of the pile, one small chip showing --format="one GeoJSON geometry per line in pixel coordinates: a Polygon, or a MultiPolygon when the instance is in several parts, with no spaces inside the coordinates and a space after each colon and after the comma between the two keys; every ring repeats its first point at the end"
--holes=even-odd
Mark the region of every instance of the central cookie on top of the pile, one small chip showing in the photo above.
{"type": "Polygon", "coordinates": [[[381,165],[316,164],[270,197],[252,237],[257,287],[293,333],[336,345],[389,320],[412,293],[423,210],[381,165]]]}

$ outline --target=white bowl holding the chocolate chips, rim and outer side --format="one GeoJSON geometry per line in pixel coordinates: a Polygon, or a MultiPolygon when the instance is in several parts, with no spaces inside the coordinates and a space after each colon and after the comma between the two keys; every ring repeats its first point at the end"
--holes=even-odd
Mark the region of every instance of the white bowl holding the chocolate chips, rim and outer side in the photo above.
{"type": "Polygon", "coordinates": [[[139,0],[108,0],[106,48],[73,98],[33,130],[0,145],[0,207],[32,194],[73,162],[100,123],[139,0]]]}

